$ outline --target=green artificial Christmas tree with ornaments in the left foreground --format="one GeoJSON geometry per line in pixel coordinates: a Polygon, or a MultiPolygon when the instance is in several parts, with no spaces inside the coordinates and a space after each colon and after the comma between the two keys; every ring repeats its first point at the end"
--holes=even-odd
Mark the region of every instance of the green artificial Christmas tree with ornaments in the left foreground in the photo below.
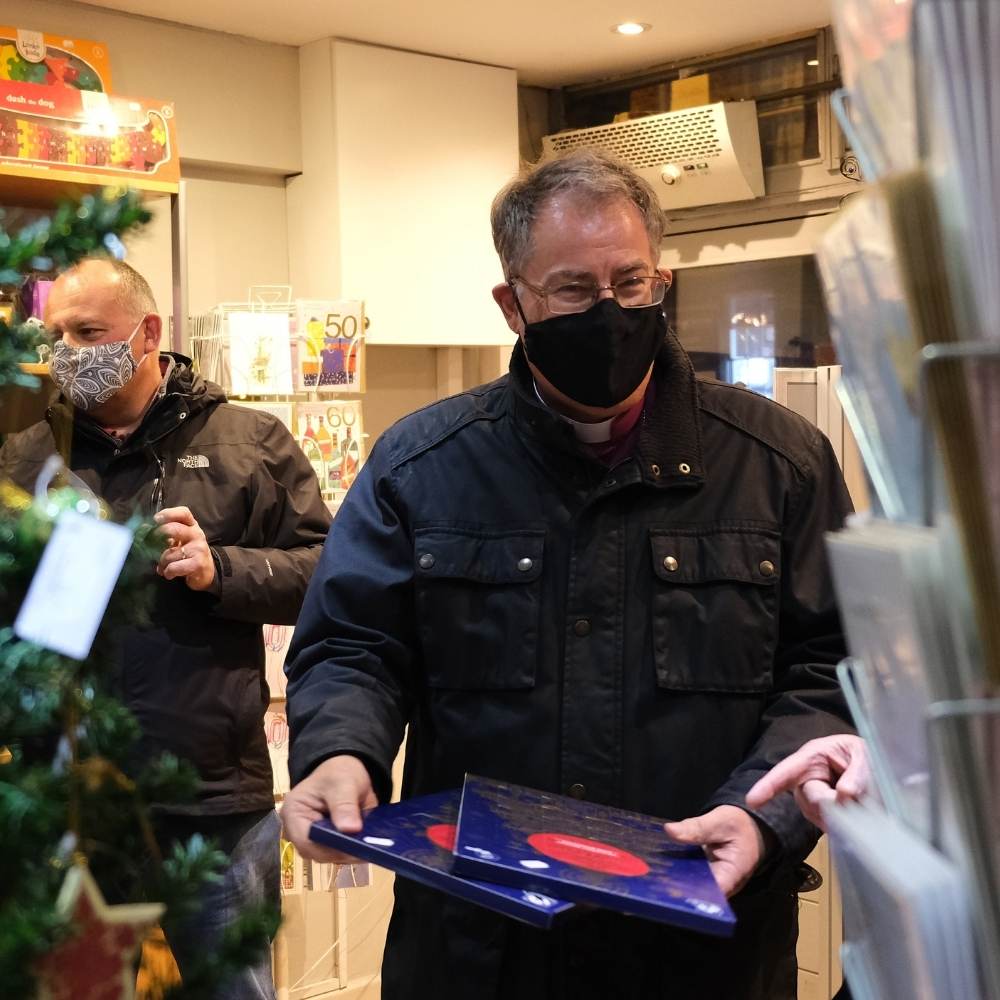
{"type": "MultiPolygon", "coordinates": [[[[14,235],[0,219],[0,283],[15,284],[29,270],[55,276],[85,256],[118,249],[119,237],[148,218],[126,193],[67,202],[14,235]]],[[[38,360],[44,338],[35,324],[0,321],[0,407],[6,386],[36,381],[21,364],[38,360]]],[[[118,1000],[131,996],[140,927],[161,912],[166,926],[189,913],[225,859],[200,837],[161,857],[148,804],[183,801],[193,774],[169,755],[133,759],[138,729],[115,697],[116,636],[142,622],[151,567],[165,545],[156,529],[139,516],[119,529],[130,536],[127,555],[80,658],[16,633],[60,520],[109,518],[100,498],[73,477],[48,470],[40,478],[34,496],[0,483],[0,993],[118,1000]]],[[[85,545],[86,531],[79,538],[85,545]]],[[[89,581],[67,585],[86,590],[89,581]]],[[[58,632],[60,603],[43,610],[58,632]]],[[[244,914],[222,946],[169,991],[171,1000],[211,997],[268,946],[276,922],[265,909],[244,914]]]]}

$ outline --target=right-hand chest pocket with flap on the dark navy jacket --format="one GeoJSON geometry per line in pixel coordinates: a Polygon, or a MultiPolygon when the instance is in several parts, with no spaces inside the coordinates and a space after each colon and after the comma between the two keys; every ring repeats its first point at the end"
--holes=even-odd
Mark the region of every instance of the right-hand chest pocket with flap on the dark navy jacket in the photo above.
{"type": "Polygon", "coordinates": [[[649,540],[659,687],[768,690],[778,636],[778,535],[653,529],[649,540]]]}

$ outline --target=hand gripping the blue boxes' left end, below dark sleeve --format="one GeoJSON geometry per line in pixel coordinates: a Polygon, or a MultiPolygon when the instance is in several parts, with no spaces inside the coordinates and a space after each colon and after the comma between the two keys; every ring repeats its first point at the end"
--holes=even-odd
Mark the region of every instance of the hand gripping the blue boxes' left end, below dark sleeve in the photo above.
{"type": "Polygon", "coordinates": [[[285,837],[304,858],[347,865],[356,859],[313,843],[309,827],[329,816],[341,833],[360,833],[361,813],[377,805],[368,769],[357,757],[343,754],[323,761],[285,796],[281,822],[285,837]]]}

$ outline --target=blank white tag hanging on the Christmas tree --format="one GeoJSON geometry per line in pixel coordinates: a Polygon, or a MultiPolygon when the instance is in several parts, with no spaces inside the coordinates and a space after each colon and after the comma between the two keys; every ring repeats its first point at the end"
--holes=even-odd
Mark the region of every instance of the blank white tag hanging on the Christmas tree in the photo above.
{"type": "Polygon", "coordinates": [[[42,552],[15,633],[63,656],[86,659],[131,547],[128,528],[64,512],[42,552]]]}

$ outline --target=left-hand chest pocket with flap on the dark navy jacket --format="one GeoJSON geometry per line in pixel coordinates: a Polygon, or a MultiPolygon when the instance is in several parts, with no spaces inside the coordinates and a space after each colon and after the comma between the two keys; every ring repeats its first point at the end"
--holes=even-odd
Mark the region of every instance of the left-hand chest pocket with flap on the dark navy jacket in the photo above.
{"type": "Polygon", "coordinates": [[[417,620],[432,688],[535,683],[545,532],[415,532],[417,620]]]}

